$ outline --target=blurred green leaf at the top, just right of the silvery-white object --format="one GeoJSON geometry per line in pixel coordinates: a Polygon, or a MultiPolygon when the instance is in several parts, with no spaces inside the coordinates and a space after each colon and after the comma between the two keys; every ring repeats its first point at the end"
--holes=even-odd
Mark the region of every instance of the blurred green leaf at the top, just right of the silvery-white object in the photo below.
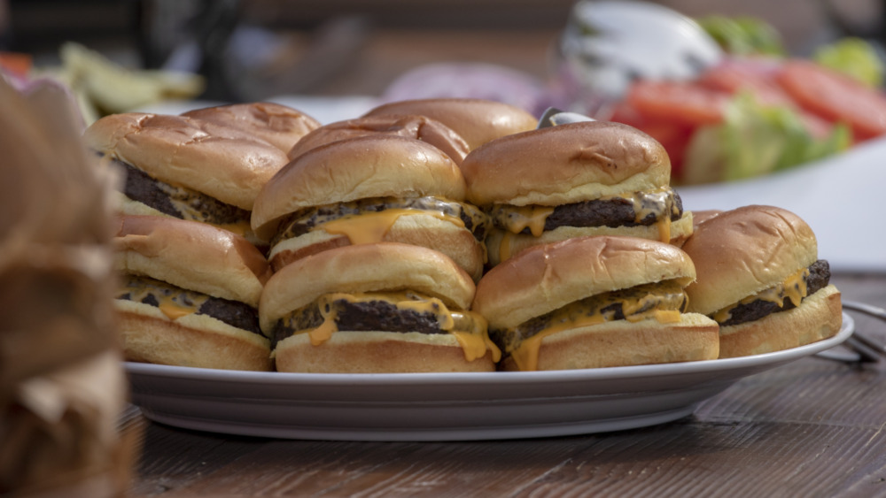
{"type": "Polygon", "coordinates": [[[784,56],[781,35],[769,23],[750,16],[711,15],[696,19],[719,46],[739,56],[784,56]]]}

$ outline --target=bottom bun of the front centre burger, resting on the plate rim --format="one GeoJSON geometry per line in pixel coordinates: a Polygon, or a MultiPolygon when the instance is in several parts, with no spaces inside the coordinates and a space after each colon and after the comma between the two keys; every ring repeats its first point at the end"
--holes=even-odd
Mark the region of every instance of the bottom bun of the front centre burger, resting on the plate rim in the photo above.
{"type": "Polygon", "coordinates": [[[307,333],[276,345],[276,370],[302,373],[494,372],[486,356],[464,358],[455,336],[448,333],[336,332],[320,346],[307,333]]]}

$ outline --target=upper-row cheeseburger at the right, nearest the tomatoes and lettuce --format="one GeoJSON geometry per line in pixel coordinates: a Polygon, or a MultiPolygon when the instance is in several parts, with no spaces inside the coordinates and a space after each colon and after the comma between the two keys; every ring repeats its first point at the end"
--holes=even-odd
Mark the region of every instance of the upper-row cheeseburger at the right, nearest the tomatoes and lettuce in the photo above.
{"type": "Polygon", "coordinates": [[[495,265],[533,245],[630,235],[679,245],[692,215],[669,186],[671,162],[648,134],[589,121],[512,134],[462,162],[468,202],[492,220],[495,265]]]}

